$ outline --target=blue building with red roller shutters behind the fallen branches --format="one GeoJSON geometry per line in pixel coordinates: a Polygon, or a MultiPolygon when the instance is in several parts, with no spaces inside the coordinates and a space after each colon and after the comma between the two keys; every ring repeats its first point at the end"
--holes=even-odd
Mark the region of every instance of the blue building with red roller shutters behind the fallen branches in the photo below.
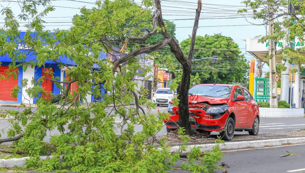
{"type": "MultiPolygon", "coordinates": [[[[25,32],[21,32],[20,33],[20,37],[24,37],[25,32]]],[[[26,47],[25,45],[19,44],[18,48],[24,48],[26,47]]],[[[114,52],[113,52],[114,53],[114,52]]],[[[25,61],[31,61],[34,58],[36,58],[35,55],[32,54],[27,54],[27,51],[24,51],[24,54],[26,54],[26,58],[25,61]]],[[[114,54],[113,54],[114,55],[114,54]]],[[[99,59],[106,59],[107,57],[111,57],[112,55],[101,52],[100,53],[100,57],[99,59]]],[[[115,58],[114,56],[112,58],[115,58]]],[[[70,61],[69,58],[67,57],[61,57],[58,60],[59,62],[63,62],[65,64],[67,64],[68,66],[75,66],[77,64],[75,64],[75,62],[70,61]]],[[[56,64],[53,61],[46,61],[45,62],[45,68],[43,67],[37,67],[35,66],[34,68],[31,68],[31,66],[29,65],[26,69],[25,72],[23,72],[22,68],[20,67],[18,69],[18,73],[17,73],[17,79],[13,80],[13,77],[11,77],[11,80],[6,79],[7,75],[6,75],[6,70],[8,70],[8,65],[11,63],[11,58],[8,57],[7,55],[3,55],[0,56],[0,62],[2,63],[0,66],[0,75],[4,75],[5,79],[0,81],[0,101],[5,102],[5,101],[9,101],[9,102],[16,102],[16,103],[30,103],[33,104],[36,102],[37,98],[30,98],[30,96],[27,95],[26,90],[27,88],[33,87],[33,85],[31,84],[31,80],[33,78],[35,78],[36,80],[39,79],[41,76],[46,76],[48,77],[47,74],[45,74],[45,70],[52,68],[53,72],[54,72],[54,77],[59,77],[60,81],[63,81],[66,77],[66,72],[65,69],[60,69],[58,67],[58,64],[56,64]],[[28,84],[27,86],[22,86],[21,84],[21,80],[22,79],[28,79],[28,84]],[[18,97],[15,99],[13,97],[11,97],[10,93],[12,91],[12,89],[14,88],[14,86],[20,86],[20,93],[18,94],[18,97]]],[[[93,68],[96,68],[95,66],[93,68]]],[[[47,92],[52,92],[54,94],[59,94],[59,88],[56,87],[56,85],[54,84],[54,82],[52,81],[48,81],[45,80],[42,84],[43,87],[45,87],[45,91],[47,92]]],[[[75,84],[72,84],[72,87],[75,84]]],[[[75,86],[74,86],[75,87],[75,86]]],[[[101,88],[102,90],[102,88],[101,88]]],[[[42,96],[42,97],[48,97],[48,96],[42,96]]],[[[95,101],[95,98],[92,95],[87,95],[86,99],[88,102],[93,102],[95,101]]]]}

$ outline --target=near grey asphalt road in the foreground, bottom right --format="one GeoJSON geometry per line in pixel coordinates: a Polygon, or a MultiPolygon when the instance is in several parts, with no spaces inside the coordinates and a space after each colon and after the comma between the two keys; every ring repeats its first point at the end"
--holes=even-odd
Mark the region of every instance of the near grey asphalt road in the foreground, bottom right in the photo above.
{"type": "MultiPolygon", "coordinates": [[[[233,150],[224,152],[221,162],[225,162],[230,168],[225,168],[228,173],[305,173],[304,157],[305,144],[281,146],[251,150],[233,150]],[[286,151],[291,154],[287,157],[286,151]]],[[[183,160],[180,160],[174,168],[178,168],[183,160]]],[[[221,163],[220,162],[220,163],[221,163]]],[[[223,169],[215,170],[217,173],[223,169]]],[[[185,170],[171,170],[167,172],[185,173],[185,170]]]]}

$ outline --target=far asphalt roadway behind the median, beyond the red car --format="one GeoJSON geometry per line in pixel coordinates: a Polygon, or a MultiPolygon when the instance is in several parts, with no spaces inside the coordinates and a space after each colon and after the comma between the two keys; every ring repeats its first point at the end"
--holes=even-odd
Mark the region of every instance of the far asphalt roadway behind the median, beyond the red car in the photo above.
{"type": "MultiPolygon", "coordinates": [[[[131,105],[134,106],[134,105],[131,105]]],[[[127,106],[129,107],[129,106],[127,106]]],[[[147,113],[147,110],[145,108],[146,106],[144,105],[143,108],[145,110],[145,113],[147,113]]],[[[13,108],[13,107],[0,107],[0,111],[1,109],[14,109],[17,110],[19,109],[19,111],[23,111],[24,108],[13,108]]],[[[110,112],[112,108],[108,108],[106,109],[106,112],[110,112]]],[[[152,110],[152,114],[157,114],[158,113],[158,109],[160,111],[167,111],[167,106],[157,106],[156,109],[152,110]]],[[[33,108],[33,111],[35,111],[36,109],[33,108]]],[[[115,119],[116,123],[121,123],[122,119],[120,119],[120,117],[117,117],[115,119]]],[[[9,122],[7,122],[7,120],[0,120],[0,128],[5,128],[4,129],[4,134],[1,134],[1,138],[0,139],[4,139],[7,137],[6,131],[9,129],[9,122]]],[[[299,129],[304,129],[305,128],[305,118],[260,118],[260,133],[262,132],[285,132],[285,131],[295,131],[295,130],[299,130],[299,129]]],[[[135,130],[136,131],[141,131],[142,130],[142,125],[135,125],[135,130]]],[[[58,133],[57,130],[54,130],[52,132],[47,132],[48,137],[46,137],[44,140],[46,142],[49,141],[49,136],[54,135],[58,133]]],[[[164,135],[165,133],[167,133],[166,131],[166,127],[164,126],[163,129],[158,132],[158,136],[160,135],[164,135]]],[[[120,134],[120,132],[117,132],[117,134],[120,134]]],[[[235,134],[248,134],[248,132],[235,132],[235,134]]],[[[212,132],[211,135],[219,135],[218,132],[212,132]]],[[[4,144],[4,143],[3,143],[4,144]]]]}

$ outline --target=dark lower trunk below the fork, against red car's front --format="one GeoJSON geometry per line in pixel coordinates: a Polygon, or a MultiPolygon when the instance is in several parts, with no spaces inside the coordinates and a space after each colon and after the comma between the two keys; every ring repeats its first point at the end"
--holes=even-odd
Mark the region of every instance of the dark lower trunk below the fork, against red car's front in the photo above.
{"type": "MultiPolygon", "coordinates": [[[[191,65],[190,65],[191,66],[191,65]]],[[[191,125],[188,121],[189,112],[188,112],[188,89],[191,83],[191,68],[183,68],[181,84],[179,88],[179,96],[180,100],[178,108],[179,108],[179,126],[184,127],[185,133],[187,135],[191,135],[191,125]]]]}

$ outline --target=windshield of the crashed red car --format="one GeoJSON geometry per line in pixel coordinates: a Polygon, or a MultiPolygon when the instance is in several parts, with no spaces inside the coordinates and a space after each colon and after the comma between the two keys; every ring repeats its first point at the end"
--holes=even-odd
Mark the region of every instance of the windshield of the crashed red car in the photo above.
{"type": "Polygon", "coordinates": [[[188,90],[188,93],[199,96],[228,98],[230,97],[231,91],[231,86],[204,85],[193,86],[188,90]]]}

